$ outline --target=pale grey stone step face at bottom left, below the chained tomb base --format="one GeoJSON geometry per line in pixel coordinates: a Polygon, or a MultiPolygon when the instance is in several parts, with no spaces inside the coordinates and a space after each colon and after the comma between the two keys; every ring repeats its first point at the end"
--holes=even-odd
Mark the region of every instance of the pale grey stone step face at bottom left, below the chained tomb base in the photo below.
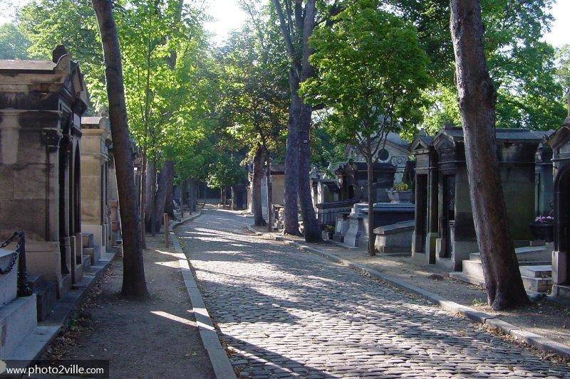
{"type": "Polygon", "coordinates": [[[38,326],[36,295],[18,297],[0,308],[0,359],[8,359],[38,326]]]}

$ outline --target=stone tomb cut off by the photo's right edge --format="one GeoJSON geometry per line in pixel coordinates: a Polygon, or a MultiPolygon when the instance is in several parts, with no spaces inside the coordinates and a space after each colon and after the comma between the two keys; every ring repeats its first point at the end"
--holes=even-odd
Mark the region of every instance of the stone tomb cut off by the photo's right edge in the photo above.
{"type": "Polygon", "coordinates": [[[570,117],[550,144],[554,162],[552,295],[570,298],[570,117]]]}

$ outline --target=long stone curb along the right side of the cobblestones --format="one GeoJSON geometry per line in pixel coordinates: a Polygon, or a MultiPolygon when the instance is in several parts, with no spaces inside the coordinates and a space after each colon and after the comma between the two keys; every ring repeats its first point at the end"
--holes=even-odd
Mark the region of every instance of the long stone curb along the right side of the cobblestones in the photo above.
{"type": "Polygon", "coordinates": [[[501,333],[506,334],[507,336],[512,336],[514,338],[517,338],[519,341],[528,343],[530,346],[538,348],[541,351],[556,353],[565,358],[570,358],[570,346],[566,346],[563,345],[562,343],[552,341],[543,336],[539,336],[538,334],[525,331],[524,329],[521,329],[518,326],[514,326],[506,321],[497,319],[497,317],[492,316],[491,314],[487,314],[482,311],[477,311],[476,309],[472,309],[469,306],[457,304],[455,301],[446,300],[445,298],[441,297],[438,294],[426,291],[425,289],[404,282],[403,280],[390,277],[366,265],[361,265],[360,263],[347,260],[346,258],[338,257],[338,255],[334,255],[330,252],[319,250],[316,247],[304,245],[296,241],[286,240],[284,236],[268,235],[267,233],[258,232],[257,230],[254,230],[254,228],[252,228],[251,225],[247,225],[247,230],[254,233],[255,235],[263,237],[264,239],[284,241],[287,243],[287,245],[294,246],[299,250],[314,252],[317,255],[321,255],[323,257],[328,258],[328,260],[339,263],[351,269],[355,269],[356,271],[366,274],[369,277],[373,277],[375,279],[381,279],[384,282],[388,282],[389,284],[392,284],[395,287],[398,287],[400,289],[405,289],[406,291],[412,292],[413,294],[418,294],[421,297],[430,301],[432,304],[440,306],[445,311],[449,311],[453,314],[460,314],[461,316],[464,316],[470,321],[474,321],[478,324],[484,324],[493,329],[497,329],[501,333]]]}

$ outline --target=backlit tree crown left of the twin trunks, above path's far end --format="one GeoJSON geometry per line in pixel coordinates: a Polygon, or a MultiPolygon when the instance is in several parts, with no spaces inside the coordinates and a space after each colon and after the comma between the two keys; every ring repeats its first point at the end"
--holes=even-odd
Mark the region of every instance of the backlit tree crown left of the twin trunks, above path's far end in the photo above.
{"type": "Polygon", "coordinates": [[[289,117],[289,62],[269,9],[242,4],[251,20],[219,52],[222,122],[249,158],[259,147],[279,154],[289,117]]]}

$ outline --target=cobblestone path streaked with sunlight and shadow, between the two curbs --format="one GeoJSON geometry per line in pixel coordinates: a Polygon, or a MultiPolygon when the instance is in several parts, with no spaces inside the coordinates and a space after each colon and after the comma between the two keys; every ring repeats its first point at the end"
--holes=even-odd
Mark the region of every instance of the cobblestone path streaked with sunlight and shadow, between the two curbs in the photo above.
{"type": "Polygon", "coordinates": [[[570,378],[567,365],[207,210],[177,229],[244,378],[570,378]]]}

